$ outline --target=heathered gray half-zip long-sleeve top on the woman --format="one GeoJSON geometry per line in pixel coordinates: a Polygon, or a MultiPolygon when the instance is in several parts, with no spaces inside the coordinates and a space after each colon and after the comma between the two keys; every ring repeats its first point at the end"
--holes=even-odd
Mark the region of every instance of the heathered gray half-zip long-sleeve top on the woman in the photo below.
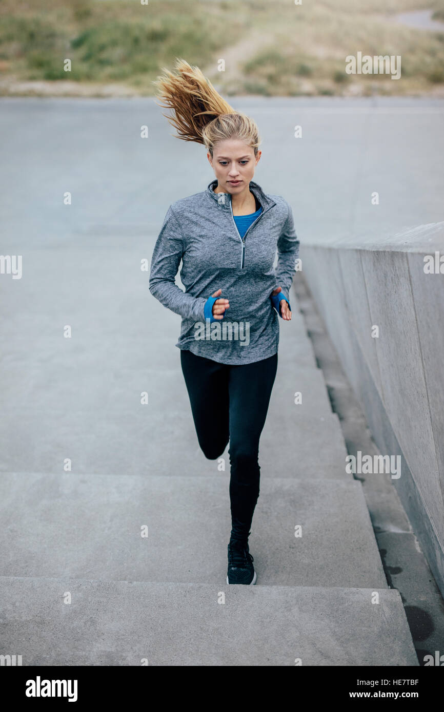
{"type": "Polygon", "coordinates": [[[213,180],[168,208],[151,259],[150,292],[182,316],[178,348],[220,363],[252,363],[278,350],[275,307],[281,298],[289,301],[299,239],[286,200],[265,194],[253,181],[249,189],[262,212],[242,238],[230,194],[215,193],[216,187],[213,180]],[[185,292],[175,283],[181,260],[185,292]],[[278,299],[271,297],[277,286],[278,299]],[[222,320],[208,319],[205,305],[218,289],[229,308],[222,320]]]}

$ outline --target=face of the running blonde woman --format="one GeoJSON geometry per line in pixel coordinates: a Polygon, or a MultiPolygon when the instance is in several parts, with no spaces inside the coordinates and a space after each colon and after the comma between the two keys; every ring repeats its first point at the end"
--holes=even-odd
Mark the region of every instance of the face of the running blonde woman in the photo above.
{"type": "Polygon", "coordinates": [[[208,152],[207,158],[215,171],[218,187],[226,193],[248,190],[261,154],[262,151],[258,151],[255,156],[252,147],[238,139],[217,143],[213,156],[208,152]]]}

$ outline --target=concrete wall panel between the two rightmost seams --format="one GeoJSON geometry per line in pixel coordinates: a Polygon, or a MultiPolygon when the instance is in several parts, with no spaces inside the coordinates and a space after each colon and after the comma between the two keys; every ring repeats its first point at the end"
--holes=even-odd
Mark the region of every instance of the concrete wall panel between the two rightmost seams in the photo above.
{"type": "MultiPolygon", "coordinates": [[[[444,247],[444,229],[443,229],[444,247]]],[[[407,464],[414,473],[420,496],[427,504],[430,518],[444,543],[444,502],[438,461],[430,422],[428,390],[422,348],[413,304],[407,256],[403,253],[371,252],[363,255],[366,289],[373,323],[379,325],[376,353],[380,365],[383,404],[407,464]],[[375,281],[374,275],[378,275],[375,281]],[[388,308],[390,305],[390,308],[388,308]]],[[[428,283],[435,275],[425,275],[428,283]]],[[[419,295],[418,295],[419,296],[419,295]]],[[[436,312],[438,323],[444,313],[436,312]]],[[[442,370],[436,362],[430,373],[430,386],[444,386],[442,370]]]]}

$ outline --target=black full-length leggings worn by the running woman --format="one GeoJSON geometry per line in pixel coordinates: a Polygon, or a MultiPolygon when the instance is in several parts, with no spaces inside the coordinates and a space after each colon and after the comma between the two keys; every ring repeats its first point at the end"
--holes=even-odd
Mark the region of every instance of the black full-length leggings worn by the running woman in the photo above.
{"type": "Polygon", "coordinates": [[[218,363],[180,350],[192,417],[202,452],[210,460],[229,441],[232,540],[246,542],[259,497],[259,438],[277,372],[277,353],[242,365],[218,363]]]}

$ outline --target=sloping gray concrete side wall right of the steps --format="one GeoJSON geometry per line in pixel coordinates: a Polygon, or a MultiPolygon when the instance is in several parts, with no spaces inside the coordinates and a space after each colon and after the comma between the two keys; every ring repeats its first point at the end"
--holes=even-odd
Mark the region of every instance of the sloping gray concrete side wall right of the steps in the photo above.
{"type": "Polygon", "coordinates": [[[444,273],[424,272],[435,251],[444,272],[444,223],[301,239],[300,256],[378,449],[401,456],[392,481],[444,595],[444,273]]]}

